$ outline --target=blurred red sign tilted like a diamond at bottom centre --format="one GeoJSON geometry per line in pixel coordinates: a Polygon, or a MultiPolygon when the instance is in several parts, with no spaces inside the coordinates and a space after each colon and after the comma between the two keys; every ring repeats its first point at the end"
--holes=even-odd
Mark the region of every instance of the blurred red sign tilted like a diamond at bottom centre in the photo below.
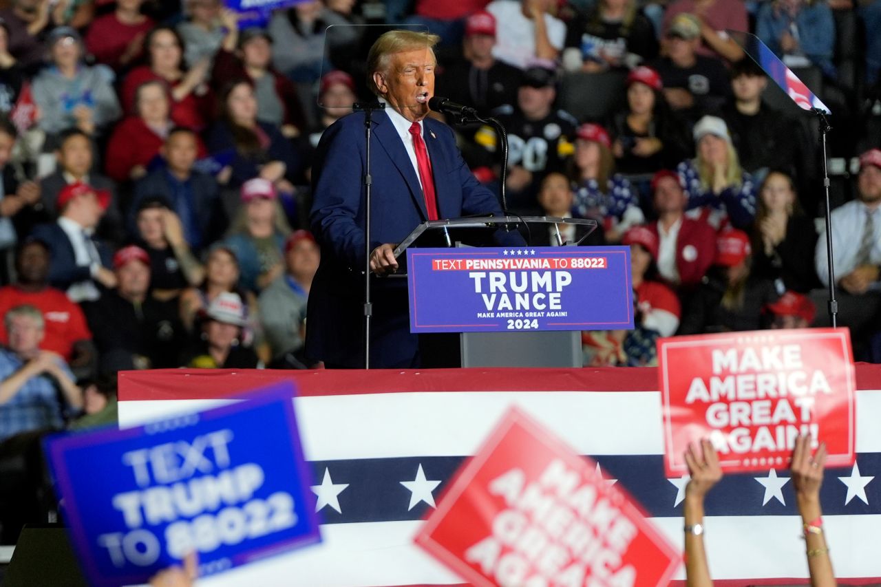
{"type": "Polygon", "coordinates": [[[596,463],[517,409],[456,473],[416,541],[478,587],[656,587],[680,563],[596,463]]]}

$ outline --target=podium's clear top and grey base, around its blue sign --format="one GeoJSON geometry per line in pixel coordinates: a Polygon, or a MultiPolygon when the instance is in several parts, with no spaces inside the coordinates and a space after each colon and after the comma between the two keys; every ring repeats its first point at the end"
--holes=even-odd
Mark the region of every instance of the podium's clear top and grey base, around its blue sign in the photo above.
{"type": "MultiPolygon", "coordinates": [[[[547,216],[492,216],[430,220],[420,224],[395,249],[402,270],[394,277],[406,278],[408,249],[447,247],[455,249],[508,244],[520,247],[531,226],[556,235],[560,247],[580,245],[596,230],[596,220],[547,216]],[[519,227],[507,232],[508,227],[519,227]],[[564,234],[577,236],[566,241],[564,234]]],[[[581,329],[571,331],[438,332],[420,333],[422,364],[428,368],[451,367],[581,367],[581,329]]]]}

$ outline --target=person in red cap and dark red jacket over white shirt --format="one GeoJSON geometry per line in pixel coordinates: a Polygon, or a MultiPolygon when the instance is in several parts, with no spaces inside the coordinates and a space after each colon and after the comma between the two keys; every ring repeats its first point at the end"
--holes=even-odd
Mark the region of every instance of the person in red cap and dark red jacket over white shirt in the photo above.
{"type": "Polygon", "coordinates": [[[679,294],[691,291],[713,264],[715,231],[685,217],[688,196],[675,171],[657,172],[651,187],[658,219],[648,227],[658,237],[658,272],[679,294]]]}

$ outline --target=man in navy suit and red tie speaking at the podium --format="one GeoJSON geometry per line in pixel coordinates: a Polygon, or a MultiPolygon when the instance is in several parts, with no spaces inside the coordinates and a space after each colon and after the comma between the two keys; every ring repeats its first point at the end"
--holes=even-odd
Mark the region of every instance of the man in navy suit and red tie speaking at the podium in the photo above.
{"type": "MultiPolygon", "coordinates": [[[[386,103],[374,111],[371,140],[370,269],[377,275],[396,271],[396,243],[426,220],[501,214],[498,199],[465,165],[453,131],[426,117],[437,41],[389,31],[367,54],[367,84],[386,103]]],[[[306,350],[329,368],[364,367],[364,117],[338,120],[315,152],[311,221],[322,261],[309,292],[306,350]]],[[[371,297],[370,366],[419,367],[406,279],[374,279],[371,297]]]]}

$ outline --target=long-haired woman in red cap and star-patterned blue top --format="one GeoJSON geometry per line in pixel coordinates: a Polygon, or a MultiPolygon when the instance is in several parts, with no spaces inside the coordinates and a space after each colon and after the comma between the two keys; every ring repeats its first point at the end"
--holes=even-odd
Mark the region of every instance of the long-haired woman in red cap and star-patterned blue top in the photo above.
{"type": "Polygon", "coordinates": [[[620,241],[628,228],[645,221],[635,190],[615,173],[611,138],[599,124],[578,128],[569,179],[575,192],[574,215],[602,224],[606,241],[620,241]]]}

